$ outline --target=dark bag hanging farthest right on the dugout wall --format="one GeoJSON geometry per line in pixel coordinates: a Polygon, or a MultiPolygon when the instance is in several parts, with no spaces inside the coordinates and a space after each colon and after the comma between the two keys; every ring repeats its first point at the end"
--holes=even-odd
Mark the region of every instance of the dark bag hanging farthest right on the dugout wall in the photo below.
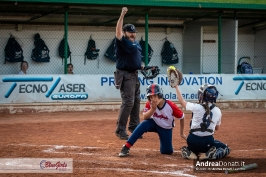
{"type": "Polygon", "coordinates": [[[163,44],[162,52],[162,63],[171,65],[178,63],[178,53],[174,47],[174,44],[169,42],[167,39],[163,44]]]}

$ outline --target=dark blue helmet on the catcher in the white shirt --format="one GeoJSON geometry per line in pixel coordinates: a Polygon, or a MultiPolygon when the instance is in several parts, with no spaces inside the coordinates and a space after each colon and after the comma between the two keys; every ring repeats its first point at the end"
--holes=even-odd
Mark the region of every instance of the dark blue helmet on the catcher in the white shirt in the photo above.
{"type": "Polygon", "coordinates": [[[203,102],[216,103],[216,99],[218,98],[218,93],[219,92],[215,86],[210,84],[202,85],[198,90],[199,103],[203,102]]]}

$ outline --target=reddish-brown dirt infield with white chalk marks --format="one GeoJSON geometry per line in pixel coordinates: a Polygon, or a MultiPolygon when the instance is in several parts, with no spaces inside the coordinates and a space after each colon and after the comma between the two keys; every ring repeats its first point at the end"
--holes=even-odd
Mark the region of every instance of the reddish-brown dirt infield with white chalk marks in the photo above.
{"type": "MultiPolygon", "coordinates": [[[[225,159],[254,160],[257,169],[229,176],[266,176],[266,110],[222,110],[222,125],[215,139],[232,149],[225,159]],[[257,160],[256,160],[257,159],[257,160]]],[[[118,157],[124,140],[114,130],[118,112],[55,112],[0,114],[1,158],[73,158],[71,174],[0,174],[0,176],[186,176],[219,177],[220,172],[193,170],[193,161],[184,160],[180,148],[186,142],[179,136],[179,122],[173,135],[174,153],[161,155],[155,133],[131,148],[130,156],[118,157]]],[[[188,133],[191,114],[186,113],[188,133]]],[[[250,162],[251,162],[250,161],[250,162]]]]}

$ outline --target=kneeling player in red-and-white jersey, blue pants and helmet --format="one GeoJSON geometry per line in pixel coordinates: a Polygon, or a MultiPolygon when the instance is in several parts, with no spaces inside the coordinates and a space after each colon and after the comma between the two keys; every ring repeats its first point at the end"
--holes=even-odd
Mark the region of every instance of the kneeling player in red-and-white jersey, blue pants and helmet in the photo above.
{"type": "Polygon", "coordinates": [[[158,84],[151,84],[146,89],[148,101],[143,110],[143,119],[123,145],[119,157],[129,155],[130,148],[145,132],[155,132],[160,139],[161,154],[172,154],[172,129],[175,118],[180,120],[180,135],[186,139],[184,132],[184,113],[170,100],[163,98],[158,84]]]}

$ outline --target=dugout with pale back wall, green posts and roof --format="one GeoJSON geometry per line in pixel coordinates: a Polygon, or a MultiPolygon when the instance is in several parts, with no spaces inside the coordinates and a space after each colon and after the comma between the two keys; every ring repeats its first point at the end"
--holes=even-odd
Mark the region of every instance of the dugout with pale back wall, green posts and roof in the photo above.
{"type": "MultiPolygon", "coordinates": [[[[175,66],[185,74],[234,74],[242,56],[249,56],[254,68],[265,71],[266,4],[254,1],[4,0],[0,2],[0,56],[4,57],[6,42],[13,34],[22,44],[30,74],[64,74],[57,49],[67,35],[75,73],[111,74],[115,63],[104,53],[114,38],[116,21],[125,4],[129,8],[125,23],[135,24],[137,40],[143,37],[154,51],[148,65],[166,70],[160,52],[168,39],[178,52],[175,66]],[[30,57],[36,33],[50,49],[49,63],[36,63],[30,57]],[[100,49],[99,60],[87,60],[84,65],[90,36],[100,49]]],[[[0,74],[14,74],[19,69],[18,63],[1,65],[0,74]]]]}

